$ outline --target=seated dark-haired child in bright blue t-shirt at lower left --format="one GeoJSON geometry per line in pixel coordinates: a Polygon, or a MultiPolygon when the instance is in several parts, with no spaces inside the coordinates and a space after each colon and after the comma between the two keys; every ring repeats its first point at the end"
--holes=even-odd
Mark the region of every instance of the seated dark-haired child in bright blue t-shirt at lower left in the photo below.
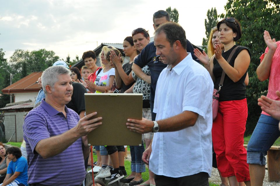
{"type": "Polygon", "coordinates": [[[20,148],[10,147],[6,150],[10,163],[7,168],[7,175],[1,186],[24,186],[27,184],[27,160],[22,157],[20,148]]]}

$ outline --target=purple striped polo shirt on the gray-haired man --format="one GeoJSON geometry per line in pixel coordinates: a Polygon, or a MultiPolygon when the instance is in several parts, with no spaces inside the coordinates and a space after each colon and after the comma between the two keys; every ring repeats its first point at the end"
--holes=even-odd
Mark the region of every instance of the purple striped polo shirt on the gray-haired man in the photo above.
{"type": "Polygon", "coordinates": [[[46,159],[35,151],[40,140],[63,134],[77,125],[79,115],[66,106],[65,111],[67,119],[43,99],[40,106],[25,117],[23,138],[26,141],[29,184],[73,186],[81,185],[85,179],[81,138],[62,153],[46,159]]]}

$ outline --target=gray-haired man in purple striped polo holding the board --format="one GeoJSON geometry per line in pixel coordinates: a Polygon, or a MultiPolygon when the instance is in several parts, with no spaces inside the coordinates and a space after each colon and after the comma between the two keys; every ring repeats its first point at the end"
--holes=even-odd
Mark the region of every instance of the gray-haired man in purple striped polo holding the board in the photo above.
{"type": "Polygon", "coordinates": [[[81,185],[85,179],[84,159],[89,155],[87,134],[97,128],[96,113],[82,119],[65,106],[73,93],[71,71],[51,66],[42,74],[46,99],[25,117],[23,133],[28,161],[28,183],[81,185]]]}

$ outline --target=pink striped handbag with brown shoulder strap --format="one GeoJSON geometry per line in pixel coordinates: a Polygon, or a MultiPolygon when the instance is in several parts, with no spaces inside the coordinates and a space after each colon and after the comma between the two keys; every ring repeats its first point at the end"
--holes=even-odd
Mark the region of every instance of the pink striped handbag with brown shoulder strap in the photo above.
{"type": "MultiPolygon", "coordinates": [[[[234,52],[236,51],[236,49],[237,49],[238,47],[239,47],[239,46],[235,47],[235,48],[231,51],[230,56],[227,58],[227,62],[228,62],[228,63],[230,62],[230,59],[232,58],[232,55],[234,54],[234,52]]],[[[214,120],[216,119],[216,117],[217,117],[218,108],[219,108],[220,90],[221,90],[221,87],[223,86],[224,79],[225,79],[225,71],[222,72],[221,80],[220,80],[220,83],[219,83],[219,90],[217,90],[217,89],[214,89],[214,90],[213,90],[213,101],[212,101],[212,115],[213,115],[213,121],[214,121],[214,120]]]]}

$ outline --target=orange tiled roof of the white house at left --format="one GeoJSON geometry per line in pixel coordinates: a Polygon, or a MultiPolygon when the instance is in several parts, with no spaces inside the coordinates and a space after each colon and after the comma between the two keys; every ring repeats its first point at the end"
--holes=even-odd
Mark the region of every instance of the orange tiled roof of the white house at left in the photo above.
{"type": "Polygon", "coordinates": [[[3,94],[38,92],[40,88],[36,83],[43,72],[33,72],[2,90],[3,94]]]}

